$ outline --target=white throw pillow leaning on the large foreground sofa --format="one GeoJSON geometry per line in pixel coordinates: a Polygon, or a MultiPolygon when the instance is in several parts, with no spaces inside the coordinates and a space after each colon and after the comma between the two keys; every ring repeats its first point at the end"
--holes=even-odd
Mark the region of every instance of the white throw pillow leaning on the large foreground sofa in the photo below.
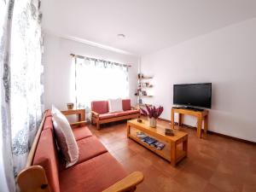
{"type": "Polygon", "coordinates": [[[67,118],[55,106],[51,109],[55,136],[58,146],[67,161],[66,167],[73,166],[79,160],[79,147],[67,118]]]}

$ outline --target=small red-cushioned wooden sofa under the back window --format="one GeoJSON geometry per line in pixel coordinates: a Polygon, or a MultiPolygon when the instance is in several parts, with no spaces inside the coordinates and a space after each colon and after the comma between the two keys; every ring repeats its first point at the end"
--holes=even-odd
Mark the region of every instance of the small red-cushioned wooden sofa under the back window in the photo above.
{"type": "Polygon", "coordinates": [[[97,130],[100,125],[122,119],[136,119],[140,117],[140,110],[131,107],[130,99],[123,99],[123,111],[109,113],[108,101],[91,102],[91,123],[96,124],[97,130]]]}

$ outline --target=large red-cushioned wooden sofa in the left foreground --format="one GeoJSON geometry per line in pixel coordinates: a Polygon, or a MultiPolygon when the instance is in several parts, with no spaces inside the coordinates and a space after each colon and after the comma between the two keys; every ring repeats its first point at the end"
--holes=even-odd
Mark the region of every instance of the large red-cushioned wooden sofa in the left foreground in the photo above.
{"type": "Polygon", "coordinates": [[[141,172],[127,175],[86,126],[73,128],[79,146],[79,160],[74,166],[66,168],[57,150],[49,111],[41,127],[38,142],[33,144],[36,146],[34,154],[29,154],[33,157],[32,165],[27,166],[18,176],[21,192],[134,191],[136,185],[143,181],[141,172]]]}

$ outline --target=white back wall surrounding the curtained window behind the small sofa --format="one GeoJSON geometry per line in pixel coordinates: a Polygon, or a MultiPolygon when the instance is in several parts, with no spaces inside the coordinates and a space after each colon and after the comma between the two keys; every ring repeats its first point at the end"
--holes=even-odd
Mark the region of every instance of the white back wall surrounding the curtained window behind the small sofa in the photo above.
{"type": "Polygon", "coordinates": [[[71,91],[72,85],[70,84],[73,78],[70,54],[131,64],[132,67],[129,68],[130,97],[132,104],[136,102],[134,96],[137,89],[138,58],[136,56],[119,54],[107,49],[45,34],[43,55],[45,108],[51,108],[51,104],[55,104],[57,108],[65,109],[67,102],[74,102],[71,91]]]}

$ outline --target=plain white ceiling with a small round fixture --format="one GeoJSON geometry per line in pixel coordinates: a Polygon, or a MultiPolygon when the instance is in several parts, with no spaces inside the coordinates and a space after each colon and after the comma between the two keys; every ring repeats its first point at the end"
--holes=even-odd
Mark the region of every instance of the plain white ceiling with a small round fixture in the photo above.
{"type": "Polygon", "coordinates": [[[42,9],[45,32],[133,55],[256,17],[255,0],[44,0],[42,9]]]}

